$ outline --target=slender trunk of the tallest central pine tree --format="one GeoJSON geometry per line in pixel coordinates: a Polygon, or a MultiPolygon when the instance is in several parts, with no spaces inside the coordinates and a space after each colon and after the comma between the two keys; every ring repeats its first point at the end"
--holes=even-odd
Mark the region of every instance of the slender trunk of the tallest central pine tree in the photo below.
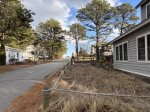
{"type": "Polygon", "coordinates": [[[99,62],[100,54],[99,54],[99,28],[96,26],[96,61],[99,62]]]}

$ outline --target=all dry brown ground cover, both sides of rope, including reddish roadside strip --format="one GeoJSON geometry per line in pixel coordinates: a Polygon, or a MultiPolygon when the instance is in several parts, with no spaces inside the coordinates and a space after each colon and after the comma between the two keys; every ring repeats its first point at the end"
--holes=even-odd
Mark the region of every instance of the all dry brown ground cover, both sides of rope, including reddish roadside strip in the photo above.
{"type": "MultiPolygon", "coordinates": [[[[57,75],[46,83],[51,85],[56,80],[57,75]]],[[[39,93],[42,88],[43,85],[37,84],[28,93],[14,100],[13,107],[17,107],[15,112],[40,112],[43,97],[39,96],[39,93]]],[[[91,93],[150,96],[148,82],[120,71],[107,71],[81,63],[67,70],[59,81],[58,88],[91,93]]],[[[51,94],[49,105],[49,112],[150,112],[150,98],[110,97],[58,91],[51,94]]]]}

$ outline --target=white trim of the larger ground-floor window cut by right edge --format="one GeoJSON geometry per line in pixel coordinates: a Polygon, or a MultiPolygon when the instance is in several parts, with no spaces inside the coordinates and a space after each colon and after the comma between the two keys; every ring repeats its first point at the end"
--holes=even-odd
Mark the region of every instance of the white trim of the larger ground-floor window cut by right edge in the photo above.
{"type": "Polygon", "coordinates": [[[147,50],[147,36],[150,35],[150,32],[149,33],[146,33],[146,34],[143,34],[143,35],[140,35],[136,38],[136,50],[137,50],[137,62],[142,62],[142,63],[150,63],[150,60],[148,60],[148,50],[147,50]],[[139,60],[139,52],[138,52],[138,39],[139,38],[142,38],[144,37],[145,38],[145,61],[140,61],[139,60]]]}

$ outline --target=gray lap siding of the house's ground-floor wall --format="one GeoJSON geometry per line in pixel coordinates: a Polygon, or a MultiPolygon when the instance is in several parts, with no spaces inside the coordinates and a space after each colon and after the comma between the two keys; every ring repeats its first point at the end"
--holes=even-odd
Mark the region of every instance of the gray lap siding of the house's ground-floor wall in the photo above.
{"type": "Polygon", "coordinates": [[[150,63],[137,62],[136,38],[150,33],[150,24],[114,43],[114,68],[150,76],[150,63]],[[128,41],[128,62],[116,61],[116,45],[128,41]]]}

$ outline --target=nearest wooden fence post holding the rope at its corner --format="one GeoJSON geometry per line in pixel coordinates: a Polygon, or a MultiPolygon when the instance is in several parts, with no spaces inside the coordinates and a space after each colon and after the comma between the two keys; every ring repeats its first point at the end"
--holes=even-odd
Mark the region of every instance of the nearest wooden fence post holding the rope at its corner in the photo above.
{"type": "Polygon", "coordinates": [[[45,86],[43,89],[43,112],[49,107],[49,98],[51,91],[47,91],[48,89],[48,86],[45,86]]]}

